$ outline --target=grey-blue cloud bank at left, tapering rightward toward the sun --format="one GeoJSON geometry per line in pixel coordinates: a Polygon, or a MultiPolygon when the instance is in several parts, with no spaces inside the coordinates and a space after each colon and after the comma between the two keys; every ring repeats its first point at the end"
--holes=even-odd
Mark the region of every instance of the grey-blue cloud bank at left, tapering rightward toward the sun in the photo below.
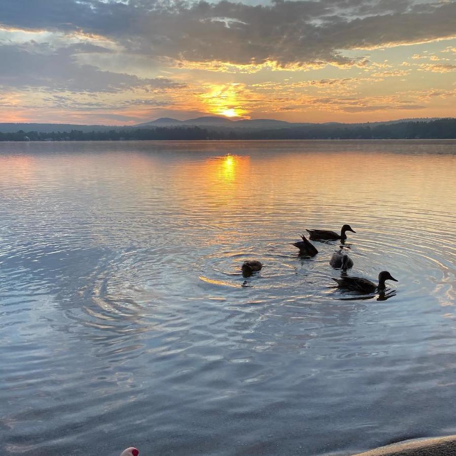
{"type": "Polygon", "coordinates": [[[167,90],[182,84],[166,78],[144,79],[133,74],[102,71],[94,65],[80,64],[80,52],[109,52],[88,44],[54,49],[48,44],[0,45],[0,86],[40,88],[78,93],[117,93],[141,88],[146,91],[167,90]]]}

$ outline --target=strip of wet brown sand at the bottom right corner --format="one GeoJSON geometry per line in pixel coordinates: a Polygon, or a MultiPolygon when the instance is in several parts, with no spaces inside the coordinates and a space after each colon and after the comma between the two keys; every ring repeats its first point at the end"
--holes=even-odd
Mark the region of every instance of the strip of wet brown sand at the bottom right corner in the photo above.
{"type": "Polygon", "coordinates": [[[354,456],[450,456],[456,454],[456,435],[406,440],[374,448],[354,456]]]}

